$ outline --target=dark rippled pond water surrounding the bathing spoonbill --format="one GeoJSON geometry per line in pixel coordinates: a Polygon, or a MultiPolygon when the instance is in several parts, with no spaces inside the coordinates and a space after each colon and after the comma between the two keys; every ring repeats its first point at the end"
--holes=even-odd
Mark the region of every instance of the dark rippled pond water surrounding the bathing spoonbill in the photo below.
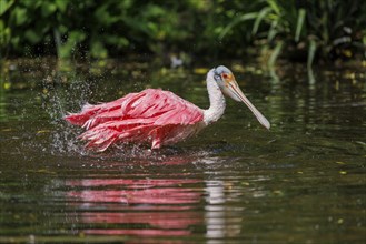
{"type": "MultiPolygon", "coordinates": [[[[212,65],[217,65],[215,63],[212,65]]],[[[1,77],[0,243],[365,243],[366,78],[226,63],[240,103],[197,138],[92,153],[67,111],[148,87],[207,108],[207,69],[12,61],[1,77]]]]}

